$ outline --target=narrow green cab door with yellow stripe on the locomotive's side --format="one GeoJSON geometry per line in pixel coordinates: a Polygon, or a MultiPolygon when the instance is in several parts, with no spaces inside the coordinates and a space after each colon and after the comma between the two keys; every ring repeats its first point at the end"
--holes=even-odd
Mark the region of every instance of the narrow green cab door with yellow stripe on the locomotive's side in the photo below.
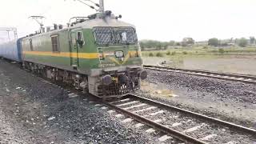
{"type": "Polygon", "coordinates": [[[78,58],[78,30],[71,30],[71,42],[70,42],[70,65],[73,66],[74,70],[78,69],[79,58],[78,58]]]}

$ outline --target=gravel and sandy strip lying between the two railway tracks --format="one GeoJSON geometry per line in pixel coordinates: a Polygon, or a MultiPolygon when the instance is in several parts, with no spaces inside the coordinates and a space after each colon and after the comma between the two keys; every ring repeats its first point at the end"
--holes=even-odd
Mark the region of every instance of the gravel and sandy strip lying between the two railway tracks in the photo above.
{"type": "Polygon", "coordinates": [[[256,128],[255,85],[157,70],[147,70],[147,72],[149,76],[146,83],[150,83],[150,88],[142,89],[138,94],[242,126],[256,128]],[[161,90],[170,90],[172,94],[178,96],[155,94],[156,91],[161,90]]]}

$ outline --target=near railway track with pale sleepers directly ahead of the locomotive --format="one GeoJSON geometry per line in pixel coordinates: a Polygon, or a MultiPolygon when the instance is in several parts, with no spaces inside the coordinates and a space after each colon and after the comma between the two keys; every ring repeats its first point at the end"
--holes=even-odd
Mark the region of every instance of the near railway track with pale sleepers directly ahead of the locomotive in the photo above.
{"type": "Polygon", "coordinates": [[[256,130],[189,110],[169,106],[161,102],[129,95],[125,98],[104,102],[122,122],[134,122],[137,128],[146,128],[146,133],[162,132],[160,142],[170,143],[254,143],[256,130]]]}

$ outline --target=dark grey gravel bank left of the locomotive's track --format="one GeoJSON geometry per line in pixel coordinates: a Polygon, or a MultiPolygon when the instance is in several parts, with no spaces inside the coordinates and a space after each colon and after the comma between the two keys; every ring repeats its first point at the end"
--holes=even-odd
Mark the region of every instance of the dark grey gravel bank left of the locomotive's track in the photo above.
{"type": "Polygon", "coordinates": [[[143,134],[114,119],[86,96],[0,60],[0,143],[149,143],[143,134]]]}

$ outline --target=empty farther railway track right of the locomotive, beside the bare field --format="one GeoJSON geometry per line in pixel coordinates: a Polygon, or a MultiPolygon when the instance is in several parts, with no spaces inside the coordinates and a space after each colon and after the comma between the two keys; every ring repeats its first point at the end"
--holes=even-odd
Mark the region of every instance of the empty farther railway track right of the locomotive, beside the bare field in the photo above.
{"type": "Polygon", "coordinates": [[[256,84],[256,76],[253,75],[245,75],[245,74],[229,74],[229,73],[220,73],[220,72],[213,72],[207,70],[188,70],[188,69],[178,69],[178,68],[171,68],[171,67],[164,67],[164,66],[149,66],[144,65],[144,68],[148,70],[160,70],[160,71],[167,71],[167,72],[174,72],[180,74],[191,74],[197,75],[202,77],[210,77],[210,78],[218,78],[218,79],[225,79],[235,82],[246,82],[256,84]]]}

